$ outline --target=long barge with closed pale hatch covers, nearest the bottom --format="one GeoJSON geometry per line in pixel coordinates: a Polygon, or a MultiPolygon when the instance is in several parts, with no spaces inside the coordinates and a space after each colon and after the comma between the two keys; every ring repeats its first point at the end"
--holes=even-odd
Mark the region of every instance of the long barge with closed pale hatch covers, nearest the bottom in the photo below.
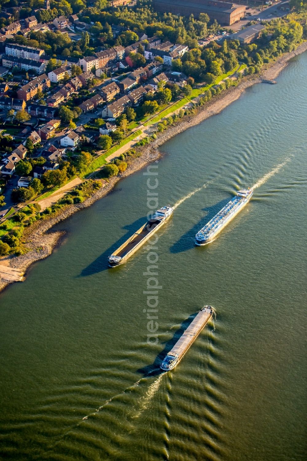
{"type": "Polygon", "coordinates": [[[172,370],[181,361],[183,355],[187,352],[191,344],[195,341],[201,330],[208,323],[213,316],[213,308],[211,306],[204,306],[200,312],[192,320],[188,328],[184,331],[183,335],[178,339],[175,346],[166,355],[165,359],[160,365],[160,368],[165,372],[172,370]]]}

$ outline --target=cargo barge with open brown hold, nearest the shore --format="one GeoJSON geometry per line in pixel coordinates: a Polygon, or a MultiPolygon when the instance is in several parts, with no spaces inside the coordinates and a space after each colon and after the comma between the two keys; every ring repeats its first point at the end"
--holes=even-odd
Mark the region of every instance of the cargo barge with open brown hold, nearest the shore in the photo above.
{"type": "Polygon", "coordinates": [[[170,206],[159,208],[159,210],[153,214],[152,219],[149,219],[145,225],[142,225],[133,236],[129,237],[126,242],[108,257],[109,266],[115,267],[124,264],[124,262],[126,262],[126,260],[129,259],[155,231],[158,231],[158,229],[165,224],[173,211],[174,208],[170,206]]]}

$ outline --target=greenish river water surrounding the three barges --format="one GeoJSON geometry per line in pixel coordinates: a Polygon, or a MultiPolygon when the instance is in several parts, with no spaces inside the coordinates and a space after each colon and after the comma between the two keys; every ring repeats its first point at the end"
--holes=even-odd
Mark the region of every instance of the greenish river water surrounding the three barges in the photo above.
{"type": "Polygon", "coordinates": [[[145,169],[59,224],[61,245],[0,296],[1,459],[304,458],[306,75],[307,53],[277,85],[251,87],[162,146],[153,192],[176,209],[157,248],[106,266],[148,213],[155,176],[145,169]],[[248,186],[248,206],[195,247],[195,233],[248,186]],[[158,343],[148,344],[143,292],[157,257],[158,343]],[[216,319],[159,374],[204,304],[216,319]]]}

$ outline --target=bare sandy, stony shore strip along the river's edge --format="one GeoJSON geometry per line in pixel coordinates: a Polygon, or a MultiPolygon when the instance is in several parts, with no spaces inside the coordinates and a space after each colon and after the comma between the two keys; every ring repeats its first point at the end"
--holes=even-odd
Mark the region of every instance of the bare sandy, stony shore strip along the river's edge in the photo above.
{"type": "MultiPolygon", "coordinates": [[[[95,192],[91,197],[86,199],[83,203],[77,205],[70,205],[63,209],[59,214],[47,220],[37,221],[30,228],[26,229],[24,237],[27,247],[30,251],[21,256],[16,256],[10,259],[10,266],[17,268],[20,272],[24,273],[26,269],[35,261],[46,258],[53,251],[53,248],[58,244],[59,239],[64,234],[63,232],[48,232],[55,224],[68,218],[73,213],[82,210],[92,205],[96,200],[104,197],[113,189],[114,185],[123,177],[129,176],[142,169],[148,163],[157,160],[160,156],[159,146],[165,141],[191,126],[201,123],[203,120],[216,115],[221,112],[225,107],[229,106],[232,102],[237,100],[242,92],[250,86],[261,83],[263,79],[272,80],[286,67],[289,59],[294,58],[298,54],[307,51],[307,42],[302,43],[295,51],[283,54],[277,61],[268,69],[261,72],[260,75],[251,76],[244,79],[237,87],[231,87],[226,92],[222,92],[218,97],[215,97],[207,105],[200,108],[200,110],[191,117],[185,117],[177,124],[171,125],[163,133],[157,133],[157,139],[149,146],[146,146],[142,151],[142,156],[134,160],[126,171],[119,177],[111,178],[109,183],[95,192]]],[[[1,260],[0,260],[1,261],[1,260]]],[[[0,291],[3,290],[11,281],[0,277],[0,291]]]]}

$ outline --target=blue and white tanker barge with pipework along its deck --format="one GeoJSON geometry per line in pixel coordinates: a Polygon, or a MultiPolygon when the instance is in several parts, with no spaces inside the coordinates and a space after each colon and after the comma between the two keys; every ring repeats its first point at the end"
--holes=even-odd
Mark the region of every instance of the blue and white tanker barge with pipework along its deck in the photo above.
{"type": "Polygon", "coordinates": [[[195,245],[206,245],[213,241],[214,237],[224,229],[225,225],[242,210],[253,195],[252,189],[242,189],[237,192],[227,205],[225,205],[210,221],[197,232],[195,245]]]}

